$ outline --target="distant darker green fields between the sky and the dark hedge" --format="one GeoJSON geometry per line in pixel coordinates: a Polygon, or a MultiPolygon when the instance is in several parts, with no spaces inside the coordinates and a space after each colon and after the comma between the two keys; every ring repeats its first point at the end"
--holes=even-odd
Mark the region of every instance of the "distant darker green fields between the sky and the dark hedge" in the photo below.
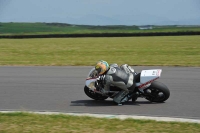
{"type": "Polygon", "coordinates": [[[62,23],[0,23],[0,35],[25,34],[87,34],[87,33],[147,33],[200,31],[200,26],[151,26],[140,30],[138,26],[91,26],[62,23]]]}

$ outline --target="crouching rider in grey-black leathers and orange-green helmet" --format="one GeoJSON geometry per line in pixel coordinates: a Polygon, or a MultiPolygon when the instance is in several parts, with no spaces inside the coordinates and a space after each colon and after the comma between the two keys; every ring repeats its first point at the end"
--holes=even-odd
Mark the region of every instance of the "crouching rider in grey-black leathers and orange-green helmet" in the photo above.
{"type": "Polygon", "coordinates": [[[122,90],[116,94],[113,101],[121,105],[129,100],[129,92],[135,88],[134,70],[130,66],[124,64],[119,67],[117,64],[109,65],[106,61],[100,60],[96,63],[95,70],[103,82],[102,93],[109,91],[110,85],[114,85],[122,90]]]}

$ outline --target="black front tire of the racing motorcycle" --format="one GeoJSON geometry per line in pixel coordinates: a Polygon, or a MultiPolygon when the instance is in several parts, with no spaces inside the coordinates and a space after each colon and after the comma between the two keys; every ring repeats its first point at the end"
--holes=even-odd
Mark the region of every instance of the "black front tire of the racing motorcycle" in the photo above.
{"type": "Polygon", "coordinates": [[[87,86],[84,87],[84,92],[88,97],[94,100],[105,100],[108,98],[107,96],[103,96],[101,94],[95,93],[94,91],[91,91],[87,86]]]}

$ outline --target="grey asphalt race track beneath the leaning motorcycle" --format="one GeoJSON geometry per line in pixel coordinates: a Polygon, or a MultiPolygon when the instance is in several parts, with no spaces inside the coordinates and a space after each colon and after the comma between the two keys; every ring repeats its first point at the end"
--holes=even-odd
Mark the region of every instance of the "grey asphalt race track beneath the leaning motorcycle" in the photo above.
{"type": "Polygon", "coordinates": [[[134,67],[161,68],[158,81],[170,89],[165,103],[145,99],[123,106],[112,99],[95,101],[84,94],[85,78],[92,67],[0,67],[1,111],[51,111],[99,114],[166,116],[200,119],[199,67],[134,67]]]}

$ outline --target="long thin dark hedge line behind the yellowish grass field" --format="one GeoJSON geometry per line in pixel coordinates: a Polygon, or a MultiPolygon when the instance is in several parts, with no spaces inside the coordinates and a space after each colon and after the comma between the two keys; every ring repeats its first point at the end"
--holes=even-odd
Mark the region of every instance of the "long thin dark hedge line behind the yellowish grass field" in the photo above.
{"type": "Polygon", "coordinates": [[[191,32],[155,32],[155,33],[90,33],[90,34],[44,34],[44,35],[0,35],[0,38],[76,38],[76,37],[142,37],[142,36],[184,36],[200,35],[200,31],[191,32]]]}

